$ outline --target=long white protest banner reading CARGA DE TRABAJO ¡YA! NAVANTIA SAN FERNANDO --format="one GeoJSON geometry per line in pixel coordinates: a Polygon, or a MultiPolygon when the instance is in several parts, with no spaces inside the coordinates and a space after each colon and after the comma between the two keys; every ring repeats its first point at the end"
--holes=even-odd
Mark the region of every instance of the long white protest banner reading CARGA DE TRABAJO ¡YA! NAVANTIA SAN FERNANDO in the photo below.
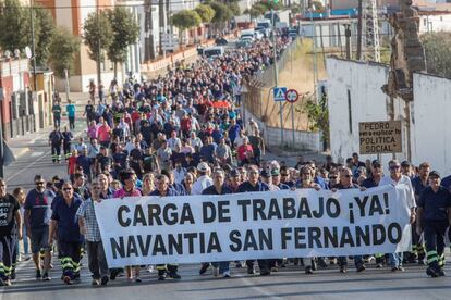
{"type": "Polygon", "coordinates": [[[404,187],[107,199],[110,267],[409,251],[404,187]]]}

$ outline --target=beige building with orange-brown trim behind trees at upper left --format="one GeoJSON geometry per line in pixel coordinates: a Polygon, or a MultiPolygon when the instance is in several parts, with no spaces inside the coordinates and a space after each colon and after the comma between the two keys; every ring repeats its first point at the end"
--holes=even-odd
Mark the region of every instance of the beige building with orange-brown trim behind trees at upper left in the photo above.
{"type": "MultiPolygon", "coordinates": [[[[58,26],[69,28],[74,35],[83,37],[83,24],[89,13],[97,10],[112,9],[114,0],[36,0],[36,3],[48,8],[56,20],[58,26]]],[[[118,77],[121,78],[121,70],[118,77]]],[[[105,86],[109,86],[113,79],[113,64],[105,60],[101,63],[101,80],[105,86]]],[[[87,47],[82,42],[81,51],[75,58],[75,67],[70,76],[71,91],[87,91],[89,80],[97,83],[96,62],[88,55],[87,47]]],[[[64,90],[64,80],[57,79],[56,87],[64,90]]]]}

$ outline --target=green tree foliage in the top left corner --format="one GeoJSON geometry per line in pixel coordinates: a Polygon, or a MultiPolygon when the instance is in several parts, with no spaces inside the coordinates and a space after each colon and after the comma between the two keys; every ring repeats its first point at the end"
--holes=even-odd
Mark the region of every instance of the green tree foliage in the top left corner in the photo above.
{"type": "Polygon", "coordinates": [[[31,42],[28,10],[19,0],[0,0],[0,47],[3,50],[23,50],[31,42]]]}

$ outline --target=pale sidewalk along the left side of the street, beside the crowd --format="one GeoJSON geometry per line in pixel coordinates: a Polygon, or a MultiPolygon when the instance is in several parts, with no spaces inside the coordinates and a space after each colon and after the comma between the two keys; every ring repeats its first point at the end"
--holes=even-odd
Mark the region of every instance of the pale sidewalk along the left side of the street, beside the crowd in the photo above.
{"type": "MultiPolygon", "coordinates": [[[[68,103],[65,99],[65,95],[62,95],[62,102],[61,107],[62,110],[65,111],[65,104],[68,103]]],[[[87,100],[89,99],[89,93],[87,92],[71,92],[70,98],[75,104],[76,108],[76,115],[75,115],[75,130],[73,132],[74,136],[76,137],[83,130],[86,129],[86,123],[77,122],[81,117],[83,117],[83,112],[85,111],[85,105],[87,104],[87,100]]],[[[68,116],[61,117],[61,129],[64,126],[69,126],[68,116]]],[[[17,136],[8,140],[7,145],[11,149],[11,152],[14,154],[15,160],[25,155],[32,154],[33,147],[36,146],[37,141],[45,141],[48,139],[49,134],[53,129],[53,125],[47,126],[45,128],[40,128],[39,132],[36,133],[26,133],[23,136],[17,136]]]]}

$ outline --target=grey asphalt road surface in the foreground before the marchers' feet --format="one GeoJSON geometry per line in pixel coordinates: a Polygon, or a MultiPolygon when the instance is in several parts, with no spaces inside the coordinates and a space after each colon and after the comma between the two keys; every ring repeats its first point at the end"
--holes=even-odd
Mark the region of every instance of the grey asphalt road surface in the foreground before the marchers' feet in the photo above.
{"type": "MultiPolygon", "coordinates": [[[[451,267],[446,267],[451,275],[451,267]]],[[[340,274],[337,266],[305,275],[300,266],[290,265],[278,273],[260,277],[247,275],[245,268],[232,267],[232,278],[214,277],[210,272],[198,275],[198,265],[180,267],[182,279],[158,282],[157,274],[142,270],[141,284],[129,284],[124,277],[107,287],[92,287],[86,268],[82,279],[73,286],[60,280],[56,263],[51,282],[37,282],[33,262],[19,266],[17,279],[2,288],[2,300],[15,299],[448,299],[451,292],[449,277],[428,278],[425,266],[407,265],[405,272],[392,273],[374,265],[363,273],[350,270],[340,274]]]]}

